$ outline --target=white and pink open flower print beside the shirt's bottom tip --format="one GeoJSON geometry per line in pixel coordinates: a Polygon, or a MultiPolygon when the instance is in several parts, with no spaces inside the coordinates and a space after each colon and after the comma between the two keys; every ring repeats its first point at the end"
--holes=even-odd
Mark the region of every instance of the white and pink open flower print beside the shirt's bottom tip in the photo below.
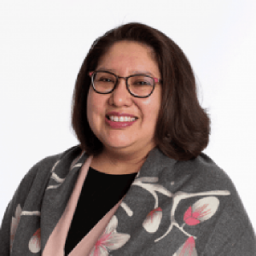
{"type": "Polygon", "coordinates": [[[129,234],[122,234],[116,231],[118,219],[115,215],[111,218],[108,226],[99,237],[98,241],[90,251],[90,256],[108,256],[108,253],[124,246],[130,239],[129,234]]]}

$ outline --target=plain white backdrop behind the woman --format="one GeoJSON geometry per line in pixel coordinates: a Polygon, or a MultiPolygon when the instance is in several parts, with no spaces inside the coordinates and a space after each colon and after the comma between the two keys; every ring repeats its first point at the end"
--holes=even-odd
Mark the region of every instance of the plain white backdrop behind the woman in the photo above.
{"type": "Polygon", "coordinates": [[[1,1],[0,220],[38,160],[77,144],[73,85],[90,44],[126,22],[154,26],[188,56],[212,119],[208,154],[231,177],[254,229],[256,1],[1,1]]]}

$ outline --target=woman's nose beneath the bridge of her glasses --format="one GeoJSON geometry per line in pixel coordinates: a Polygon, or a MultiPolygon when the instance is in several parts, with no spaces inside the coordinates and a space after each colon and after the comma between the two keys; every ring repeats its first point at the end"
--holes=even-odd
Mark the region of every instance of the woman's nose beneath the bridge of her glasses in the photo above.
{"type": "Polygon", "coordinates": [[[125,78],[119,78],[118,84],[109,97],[109,104],[116,107],[131,106],[132,96],[126,88],[125,78]]]}

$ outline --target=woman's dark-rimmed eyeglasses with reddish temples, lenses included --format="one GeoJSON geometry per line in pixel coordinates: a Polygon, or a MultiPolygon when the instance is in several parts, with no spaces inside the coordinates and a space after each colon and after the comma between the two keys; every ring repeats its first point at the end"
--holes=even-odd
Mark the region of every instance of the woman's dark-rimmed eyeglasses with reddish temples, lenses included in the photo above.
{"type": "Polygon", "coordinates": [[[152,78],[145,74],[134,74],[129,77],[119,77],[107,71],[96,71],[89,73],[93,89],[100,94],[111,93],[119,83],[119,79],[125,79],[126,88],[132,96],[146,98],[154,91],[155,83],[160,79],[152,78]]]}

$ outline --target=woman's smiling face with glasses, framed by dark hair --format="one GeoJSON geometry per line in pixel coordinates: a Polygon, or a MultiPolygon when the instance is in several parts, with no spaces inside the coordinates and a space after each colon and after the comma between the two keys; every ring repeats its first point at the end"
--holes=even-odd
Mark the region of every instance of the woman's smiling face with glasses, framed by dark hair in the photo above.
{"type": "Polygon", "coordinates": [[[152,49],[137,42],[117,42],[95,71],[95,89],[90,86],[87,98],[90,129],[108,152],[143,157],[156,146],[161,101],[161,85],[153,79],[160,78],[160,70],[152,49]]]}

